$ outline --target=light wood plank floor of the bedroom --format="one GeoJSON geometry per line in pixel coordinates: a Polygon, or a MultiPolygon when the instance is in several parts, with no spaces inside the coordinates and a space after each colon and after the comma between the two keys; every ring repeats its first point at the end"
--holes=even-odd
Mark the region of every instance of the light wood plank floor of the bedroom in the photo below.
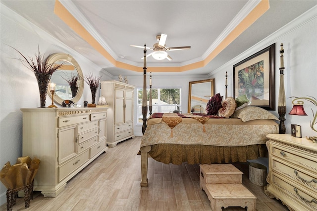
{"type": "MultiPolygon", "coordinates": [[[[141,137],[109,148],[70,180],[55,198],[34,192],[30,208],[18,198],[13,211],[211,211],[207,195],[199,187],[199,165],[163,164],[149,158],[149,187],[141,188],[141,137]]],[[[256,195],[257,211],[288,211],[270,199],[264,188],[248,179],[247,163],[235,163],[244,172],[243,184],[256,195]]],[[[41,167],[41,165],[40,165],[41,167]]],[[[6,204],[0,207],[6,210],[6,204]]],[[[240,211],[229,207],[224,211],[240,211]]]]}

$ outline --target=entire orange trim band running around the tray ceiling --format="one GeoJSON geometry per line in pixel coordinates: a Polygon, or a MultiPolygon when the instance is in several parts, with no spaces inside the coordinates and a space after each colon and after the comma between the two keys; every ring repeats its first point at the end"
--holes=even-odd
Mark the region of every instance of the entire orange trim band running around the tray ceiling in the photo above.
{"type": "MultiPolygon", "coordinates": [[[[206,57],[205,60],[187,64],[181,67],[148,67],[152,72],[184,72],[206,66],[216,55],[223,51],[232,41],[234,41],[242,32],[251,26],[259,17],[269,9],[269,1],[261,2],[241,21],[238,26],[232,30],[229,35],[206,57]]],[[[143,68],[115,60],[100,43],[72,16],[69,11],[55,0],[54,13],[60,17],[70,28],[79,36],[86,40],[92,47],[101,53],[115,67],[129,69],[136,72],[142,72],[143,68]]]]}

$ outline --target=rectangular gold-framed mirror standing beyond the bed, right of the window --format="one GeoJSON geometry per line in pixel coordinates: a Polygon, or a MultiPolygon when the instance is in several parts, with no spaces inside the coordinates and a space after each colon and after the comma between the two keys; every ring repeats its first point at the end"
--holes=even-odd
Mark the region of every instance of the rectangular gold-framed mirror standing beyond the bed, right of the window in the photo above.
{"type": "Polygon", "coordinates": [[[200,111],[205,113],[209,99],[214,96],[214,78],[189,82],[188,113],[194,106],[199,106],[200,111]]]}

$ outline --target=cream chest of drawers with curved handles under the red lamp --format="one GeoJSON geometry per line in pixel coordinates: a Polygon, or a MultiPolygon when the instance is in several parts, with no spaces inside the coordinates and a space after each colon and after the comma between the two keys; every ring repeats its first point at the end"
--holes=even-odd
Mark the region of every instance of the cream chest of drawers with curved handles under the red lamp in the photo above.
{"type": "Polygon", "coordinates": [[[291,211],[317,211],[317,144],[290,134],[269,134],[265,194],[291,211]]]}

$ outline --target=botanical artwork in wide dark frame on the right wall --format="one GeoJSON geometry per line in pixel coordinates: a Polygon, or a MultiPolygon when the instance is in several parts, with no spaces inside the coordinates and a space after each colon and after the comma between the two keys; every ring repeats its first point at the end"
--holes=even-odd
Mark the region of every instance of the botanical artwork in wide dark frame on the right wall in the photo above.
{"type": "Polygon", "coordinates": [[[275,44],[233,65],[233,97],[246,95],[251,106],[275,110],[275,44]]]}

